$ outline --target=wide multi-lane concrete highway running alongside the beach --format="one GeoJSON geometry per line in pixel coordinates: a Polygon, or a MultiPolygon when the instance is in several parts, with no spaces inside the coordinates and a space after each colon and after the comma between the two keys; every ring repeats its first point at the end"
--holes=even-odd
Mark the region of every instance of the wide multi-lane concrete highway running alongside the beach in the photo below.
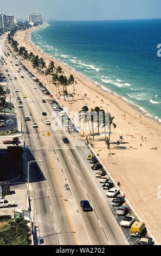
{"type": "MultiPolygon", "coordinates": [[[[1,46],[3,52],[8,52],[4,40],[1,40],[1,46]]],[[[36,223],[42,244],[128,245],[95,180],[75,148],[72,136],[63,129],[54,131],[50,125],[44,124],[45,120],[52,121],[53,109],[48,101],[42,103],[42,99],[47,100],[49,96],[43,95],[40,87],[23,68],[20,73],[17,72],[20,66],[15,66],[16,62],[11,54],[8,57],[2,55],[8,63],[3,69],[7,68],[12,77],[10,90],[14,99],[12,97],[11,101],[14,100],[12,103],[17,106],[17,119],[19,124],[23,123],[22,130],[25,132],[26,177],[27,162],[42,160],[30,164],[29,168],[30,188],[32,187],[30,193],[34,197],[35,191],[36,223]],[[22,75],[24,78],[21,78],[22,75]],[[17,80],[14,80],[15,76],[17,80]],[[37,89],[33,89],[35,86],[37,89]],[[15,89],[19,89],[19,92],[15,93],[15,89]],[[23,95],[27,98],[23,98],[23,95]],[[17,96],[23,102],[21,109],[18,108],[17,96]],[[32,113],[31,116],[29,112],[32,113]],[[47,112],[47,116],[43,116],[42,112],[47,112]],[[31,121],[25,122],[25,116],[30,117],[31,121]],[[32,127],[33,122],[37,123],[38,128],[32,127]],[[49,131],[51,136],[45,137],[45,131],[49,131]],[[70,144],[63,144],[62,137],[68,137],[70,144]],[[83,212],[80,200],[89,200],[93,211],[83,212]]]]}

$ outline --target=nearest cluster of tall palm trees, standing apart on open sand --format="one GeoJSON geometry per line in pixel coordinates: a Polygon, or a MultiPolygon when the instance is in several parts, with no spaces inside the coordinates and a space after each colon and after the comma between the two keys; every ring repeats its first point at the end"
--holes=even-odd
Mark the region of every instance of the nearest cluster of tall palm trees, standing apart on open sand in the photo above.
{"type": "Polygon", "coordinates": [[[113,125],[114,128],[116,127],[116,124],[113,123],[114,117],[111,117],[111,114],[110,114],[110,117],[109,117],[109,132],[108,132],[108,136],[107,136],[107,131],[106,131],[107,115],[106,115],[104,109],[100,109],[100,107],[95,107],[94,109],[91,108],[89,110],[88,107],[85,105],[85,106],[82,107],[82,109],[79,113],[81,113],[81,112],[85,112],[85,113],[81,114],[80,119],[83,119],[83,120],[85,120],[85,122],[88,123],[89,131],[90,131],[91,135],[93,135],[93,141],[94,141],[94,123],[97,124],[97,127],[98,127],[98,133],[97,134],[98,135],[99,135],[100,125],[105,127],[104,141],[107,144],[107,148],[110,149],[111,126],[113,125]],[[95,119],[94,114],[93,114],[94,112],[96,113],[96,119],[95,119]],[[102,112],[102,117],[103,117],[102,124],[99,122],[99,118],[100,118],[99,113],[100,112],[102,112]],[[91,121],[91,124],[89,124],[89,120],[91,121]],[[91,132],[91,126],[92,126],[92,132],[91,132]]]}

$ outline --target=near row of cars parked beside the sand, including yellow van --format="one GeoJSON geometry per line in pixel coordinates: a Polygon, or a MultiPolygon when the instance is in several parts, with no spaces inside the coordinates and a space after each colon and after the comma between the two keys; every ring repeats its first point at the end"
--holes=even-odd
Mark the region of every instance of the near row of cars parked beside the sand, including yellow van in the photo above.
{"type": "Polygon", "coordinates": [[[146,234],[146,227],[144,222],[136,220],[135,216],[130,215],[130,208],[126,205],[123,205],[125,197],[119,197],[120,193],[119,188],[115,187],[113,182],[110,181],[110,178],[107,176],[105,170],[102,169],[102,164],[98,162],[94,155],[88,155],[87,160],[89,163],[94,163],[91,167],[93,170],[97,170],[95,173],[96,178],[99,178],[100,183],[104,183],[102,188],[107,190],[106,197],[112,197],[112,206],[119,206],[115,211],[117,215],[124,216],[120,222],[120,227],[130,228],[130,235],[132,236],[143,236],[141,237],[138,245],[152,245],[153,241],[151,237],[144,236],[146,234]]]}

